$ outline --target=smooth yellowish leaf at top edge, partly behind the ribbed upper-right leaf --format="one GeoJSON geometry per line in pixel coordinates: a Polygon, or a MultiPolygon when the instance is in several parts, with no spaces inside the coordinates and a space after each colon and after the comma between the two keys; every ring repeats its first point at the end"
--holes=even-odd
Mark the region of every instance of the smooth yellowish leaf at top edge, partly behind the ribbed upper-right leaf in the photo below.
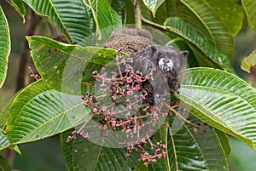
{"type": "Polygon", "coordinates": [[[233,37],[241,30],[243,11],[234,0],[207,0],[218,18],[232,32],[233,37]]]}

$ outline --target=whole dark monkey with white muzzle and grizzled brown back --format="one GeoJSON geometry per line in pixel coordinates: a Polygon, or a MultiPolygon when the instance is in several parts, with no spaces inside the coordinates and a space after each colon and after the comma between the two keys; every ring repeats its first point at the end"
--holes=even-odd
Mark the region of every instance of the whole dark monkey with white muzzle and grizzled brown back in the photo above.
{"type": "Polygon", "coordinates": [[[143,76],[156,69],[154,80],[143,82],[143,88],[148,93],[146,100],[150,105],[160,104],[157,94],[178,92],[188,51],[155,44],[152,35],[143,29],[122,29],[114,32],[103,47],[122,49],[122,52],[131,55],[135,61],[135,71],[141,71],[143,76]]]}

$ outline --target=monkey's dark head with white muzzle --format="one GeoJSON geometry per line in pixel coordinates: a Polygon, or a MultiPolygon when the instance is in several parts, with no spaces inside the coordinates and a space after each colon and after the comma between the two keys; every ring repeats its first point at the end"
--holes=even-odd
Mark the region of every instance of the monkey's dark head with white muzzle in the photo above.
{"type": "Polygon", "coordinates": [[[154,44],[145,50],[143,57],[152,61],[161,71],[175,71],[177,77],[181,77],[186,67],[187,54],[189,54],[188,51],[180,51],[173,46],[154,44]]]}

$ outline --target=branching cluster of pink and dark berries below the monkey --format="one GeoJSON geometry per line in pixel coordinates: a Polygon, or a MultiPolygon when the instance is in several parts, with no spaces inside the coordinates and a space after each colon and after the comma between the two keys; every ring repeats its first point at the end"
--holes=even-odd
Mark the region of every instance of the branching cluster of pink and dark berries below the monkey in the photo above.
{"type": "Polygon", "coordinates": [[[160,103],[150,104],[147,101],[148,89],[143,83],[153,81],[154,70],[143,76],[141,71],[135,71],[133,59],[125,59],[119,51],[116,53],[114,68],[116,70],[112,67],[108,71],[105,66],[102,71],[91,73],[96,83],[99,83],[98,92],[81,95],[84,106],[91,111],[91,117],[67,138],[67,142],[75,139],[77,134],[90,139],[84,127],[91,119],[97,119],[102,137],[108,137],[109,130],[124,133],[125,139],[119,144],[127,147],[125,156],[129,157],[132,151],[137,151],[140,154],[138,160],[148,166],[150,162],[166,157],[166,145],[162,141],[153,143],[151,139],[165,122],[166,116],[172,115],[172,112],[178,114],[174,109],[178,103],[170,105],[165,97],[159,97],[160,103]]]}

